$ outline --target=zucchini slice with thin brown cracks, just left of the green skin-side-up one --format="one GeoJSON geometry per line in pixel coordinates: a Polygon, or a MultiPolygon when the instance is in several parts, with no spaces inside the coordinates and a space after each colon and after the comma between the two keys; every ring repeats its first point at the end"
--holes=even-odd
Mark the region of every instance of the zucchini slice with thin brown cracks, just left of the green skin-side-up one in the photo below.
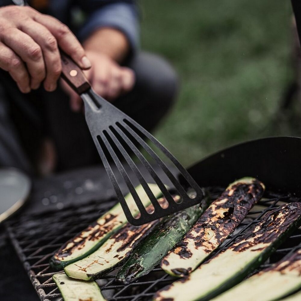
{"type": "MultiPolygon", "coordinates": [[[[173,196],[173,198],[177,199],[178,196],[173,196]]],[[[165,198],[158,199],[158,203],[160,205],[168,204],[165,198]]],[[[146,210],[151,209],[151,207],[148,206],[146,210]]],[[[67,265],[64,268],[65,273],[71,278],[82,280],[96,279],[107,274],[118,267],[159,222],[160,220],[157,220],[142,226],[126,223],[94,253],[67,265]]]]}

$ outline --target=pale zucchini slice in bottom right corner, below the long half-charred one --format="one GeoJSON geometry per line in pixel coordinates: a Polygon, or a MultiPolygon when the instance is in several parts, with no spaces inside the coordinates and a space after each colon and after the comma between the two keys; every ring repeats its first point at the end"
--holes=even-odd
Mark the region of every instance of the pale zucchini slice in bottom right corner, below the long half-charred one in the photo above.
{"type": "Polygon", "coordinates": [[[241,296],[244,296],[244,301],[279,300],[301,287],[300,275],[301,250],[282,259],[273,267],[266,268],[258,274],[247,278],[213,300],[240,301],[241,296]]]}

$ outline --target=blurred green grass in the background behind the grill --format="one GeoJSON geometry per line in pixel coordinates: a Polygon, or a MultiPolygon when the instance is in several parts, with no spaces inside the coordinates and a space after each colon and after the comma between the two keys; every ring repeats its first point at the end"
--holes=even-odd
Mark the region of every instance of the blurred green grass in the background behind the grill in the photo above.
{"type": "Polygon", "coordinates": [[[240,141],[290,135],[271,120],[287,84],[290,1],[141,1],[141,45],[181,78],[178,101],[154,133],[185,165],[240,141]]]}

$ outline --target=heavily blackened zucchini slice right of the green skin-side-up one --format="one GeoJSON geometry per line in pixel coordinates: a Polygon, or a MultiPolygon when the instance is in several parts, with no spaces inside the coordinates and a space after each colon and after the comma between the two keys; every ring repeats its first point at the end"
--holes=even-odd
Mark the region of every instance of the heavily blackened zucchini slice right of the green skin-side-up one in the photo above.
{"type": "Polygon", "coordinates": [[[192,272],[234,231],[264,190],[265,186],[255,178],[242,178],[229,185],[163,258],[161,268],[179,277],[192,272]]]}

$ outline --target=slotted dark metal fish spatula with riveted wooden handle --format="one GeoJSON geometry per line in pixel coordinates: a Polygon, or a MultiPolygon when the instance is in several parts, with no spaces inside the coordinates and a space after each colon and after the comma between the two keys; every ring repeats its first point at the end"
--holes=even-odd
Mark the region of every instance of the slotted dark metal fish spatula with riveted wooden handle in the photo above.
{"type": "Polygon", "coordinates": [[[80,95],[84,102],[85,119],[88,128],[127,220],[132,225],[142,225],[200,203],[203,199],[201,188],[178,160],[137,122],[114,107],[113,104],[97,95],[92,90],[82,70],[70,57],[62,53],[61,60],[61,76],[70,87],[80,95]],[[150,144],[152,144],[152,146],[150,144]],[[186,183],[185,187],[180,184],[166,163],[161,160],[160,157],[162,156],[165,157],[165,159],[169,159],[169,161],[178,169],[182,175],[182,179],[185,179],[185,181],[181,181],[181,183],[186,183]],[[161,206],[158,203],[157,198],[154,196],[150,187],[147,185],[146,179],[142,175],[141,168],[138,167],[138,164],[135,162],[142,163],[140,166],[145,168],[160,188],[163,196],[168,202],[168,206],[161,206]],[[114,165],[117,169],[116,167],[112,169],[114,165]],[[136,180],[138,179],[138,182],[140,182],[147,197],[151,201],[153,205],[152,212],[145,209],[145,206],[133,185],[133,178],[126,172],[126,165],[132,169],[132,175],[135,175],[136,180]],[[175,198],[172,197],[166,187],[167,183],[165,183],[158,173],[155,172],[154,165],[160,166],[166,174],[171,183],[171,188],[173,188],[176,194],[180,196],[179,201],[176,201],[175,198]],[[138,216],[132,214],[126,203],[113,170],[115,170],[115,173],[119,172],[122,175],[140,212],[138,216]],[[193,193],[188,195],[188,188],[190,188],[193,193]]]}

